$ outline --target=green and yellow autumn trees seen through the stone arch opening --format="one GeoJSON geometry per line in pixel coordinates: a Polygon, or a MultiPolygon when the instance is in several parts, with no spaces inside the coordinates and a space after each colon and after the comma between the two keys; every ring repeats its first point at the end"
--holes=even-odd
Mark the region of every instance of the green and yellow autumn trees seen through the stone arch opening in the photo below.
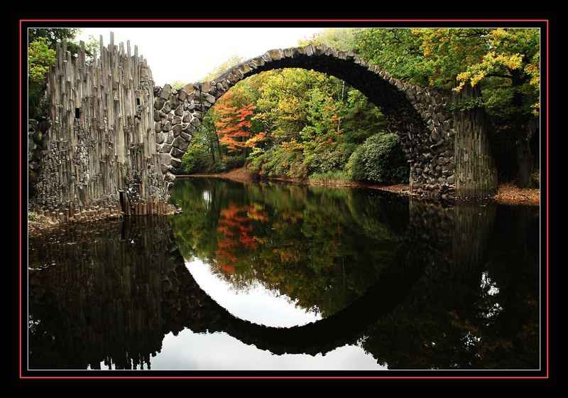
{"type": "MultiPolygon", "coordinates": [[[[192,84],[190,88],[193,88],[192,84]]],[[[389,134],[391,139],[393,135],[397,135],[386,128],[386,118],[380,109],[344,80],[304,68],[268,70],[240,80],[219,96],[211,107],[205,109],[202,123],[193,134],[193,141],[190,141],[187,149],[193,155],[193,161],[190,161],[192,166],[188,168],[184,159],[182,173],[217,172],[220,165],[226,165],[226,170],[229,170],[244,166],[248,158],[252,163],[249,164],[252,173],[258,173],[262,178],[268,171],[263,169],[261,172],[261,165],[270,163],[273,156],[278,156],[281,153],[279,151],[283,151],[281,144],[290,142],[294,146],[297,143],[302,149],[296,148],[290,152],[295,160],[290,161],[293,164],[287,163],[288,166],[280,170],[278,176],[307,178],[312,173],[343,173],[343,166],[346,166],[354,149],[376,134],[389,134]],[[281,104],[286,104],[286,109],[280,109],[281,104]],[[233,136],[231,130],[224,130],[239,123],[235,119],[238,112],[236,109],[249,111],[250,107],[255,109],[251,116],[246,117],[251,125],[239,128],[240,135],[233,136]],[[280,112],[287,112],[283,115],[284,118],[280,112]],[[217,125],[222,118],[231,120],[217,125]],[[318,132],[315,133],[315,130],[318,132]],[[229,134],[229,139],[224,139],[224,134],[229,134]],[[258,137],[261,139],[257,142],[258,137]],[[256,143],[254,147],[246,146],[248,139],[256,143]],[[307,151],[303,149],[304,145],[307,151]],[[255,154],[261,157],[249,158],[258,149],[261,151],[255,154]],[[320,167],[321,162],[305,162],[306,157],[312,156],[321,161],[334,156],[333,163],[320,167]],[[334,168],[330,169],[332,167],[334,168]]],[[[409,165],[404,158],[400,140],[396,141],[392,149],[392,154],[389,152],[383,156],[388,157],[393,170],[398,172],[398,178],[401,173],[403,178],[393,183],[408,183],[409,165]]]]}

